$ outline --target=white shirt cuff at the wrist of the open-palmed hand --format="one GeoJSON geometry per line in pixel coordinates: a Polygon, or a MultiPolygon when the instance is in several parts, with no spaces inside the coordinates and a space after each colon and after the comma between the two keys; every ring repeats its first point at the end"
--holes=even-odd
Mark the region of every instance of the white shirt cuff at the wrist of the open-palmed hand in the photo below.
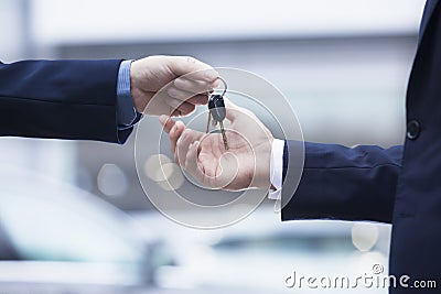
{"type": "Polygon", "coordinates": [[[282,188],[283,173],[283,148],[284,141],[280,139],[272,140],[271,161],[270,161],[270,181],[275,189],[268,192],[269,199],[280,199],[282,188]]]}

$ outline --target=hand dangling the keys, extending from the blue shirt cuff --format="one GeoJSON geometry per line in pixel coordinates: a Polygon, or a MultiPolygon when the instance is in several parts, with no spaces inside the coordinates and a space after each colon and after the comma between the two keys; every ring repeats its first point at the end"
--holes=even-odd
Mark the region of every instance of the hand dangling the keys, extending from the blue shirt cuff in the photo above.
{"type": "Polygon", "coordinates": [[[140,113],[185,116],[196,105],[207,102],[206,90],[215,86],[217,77],[209,65],[193,57],[150,56],[131,64],[130,94],[140,113]],[[152,101],[152,97],[170,81],[173,84],[152,101]],[[146,109],[150,101],[152,104],[146,109]]]}

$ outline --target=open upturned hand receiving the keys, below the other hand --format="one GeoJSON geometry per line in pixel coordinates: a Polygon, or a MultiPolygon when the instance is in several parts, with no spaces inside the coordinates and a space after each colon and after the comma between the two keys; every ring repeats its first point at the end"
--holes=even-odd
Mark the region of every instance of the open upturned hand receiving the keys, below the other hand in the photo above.
{"type": "Polygon", "coordinates": [[[169,133],[175,162],[197,182],[209,188],[238,190],[265,188],[270,183],[270,160],[273,137],[250,111],[225,99],[228,150],[220,133],[205,134],[187,129],[182,121],[161,116],[169,133]]]}

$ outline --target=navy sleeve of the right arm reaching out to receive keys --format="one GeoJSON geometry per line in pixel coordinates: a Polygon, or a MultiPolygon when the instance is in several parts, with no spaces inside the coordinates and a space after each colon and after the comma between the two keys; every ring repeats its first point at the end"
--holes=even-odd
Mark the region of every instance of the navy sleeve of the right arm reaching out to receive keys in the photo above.
{"type": "MultiPolygon", "coordinates": [[[[286,142],[283,175],[295,165],[286,142]]],[[[402,146],[345,148],[305,143],[304,170],[295,194],[282,209],[282,220],[344,219],[391,222],[402,146]]],[[[289,178],[283,178],[289,181],[289,178]]],[[[288,199],[288,198],[284,198],[288,199]]]]}

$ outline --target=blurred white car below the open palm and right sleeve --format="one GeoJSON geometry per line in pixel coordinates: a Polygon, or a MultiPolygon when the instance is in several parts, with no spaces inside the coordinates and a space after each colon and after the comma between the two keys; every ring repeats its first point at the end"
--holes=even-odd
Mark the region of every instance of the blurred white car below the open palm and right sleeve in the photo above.
{"type": "MultiPolygon", "coordinates": [[[[372,273],[373,264],[387,265],[383,243],[384,239],[387,242],[390,228],[377,224],[281,222],[280,215],[269,206],[217,230],[185,228],[158,213],[136,214],[133,218],[143,226],[157,224],[154,229],[164,232],[169,244],[175,244],[175,264],[157,271],[158,283],[163,287],[219,293],[316,293],[320,288],[288,288],[286,279],[295,271],[304,276],[347,275],[355,281],[357,275],[372,273]]],[[[322,291],[387,293],[386,288],[362,287],[322,291]]]]}

